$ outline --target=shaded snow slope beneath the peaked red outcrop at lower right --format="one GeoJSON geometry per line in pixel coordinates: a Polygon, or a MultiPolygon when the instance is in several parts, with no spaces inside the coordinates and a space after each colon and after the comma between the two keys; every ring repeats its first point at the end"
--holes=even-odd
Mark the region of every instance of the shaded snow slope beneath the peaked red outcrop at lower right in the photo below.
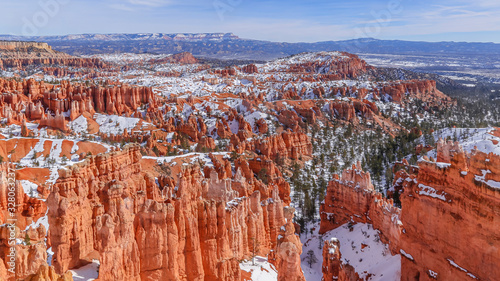
{"type": "MultiPolygon", "coordinates": [[[[314,227],[314,226],[313,226],[314,227]]],[[[401,278],[401,255],[392,256],[388,246],[380,241],[379,231],[371,224],[355,224],[352,232],[347,224],[331,230],[324,235],[318,234],[319,224],[315,225],[312,235],[302,234],[302,270],[308,281],[322,278],[323,241],[335,237],[340,241],[342,261],[354,267],[361,278],[372,274],[367,280],[399,281],[401,278]],[[362,244],[366,245],[362,249],[362,244]],[[309,250],[314,252],[316,263],[309,267],[306,256],[309,250]]]]}

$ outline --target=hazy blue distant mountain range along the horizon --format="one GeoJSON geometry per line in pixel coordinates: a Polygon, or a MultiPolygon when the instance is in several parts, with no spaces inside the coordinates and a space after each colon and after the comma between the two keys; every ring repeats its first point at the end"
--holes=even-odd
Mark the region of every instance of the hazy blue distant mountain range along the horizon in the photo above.
{"type": "Polygon", "coordinates": [[[413,42],[361,38],[317,43],[284,43],[242,39],[232,33],[80,34],[23,37],[0,35],[0,40],[47,42],[55,50],[73,55],[97,53],[179,53],[218,59],[270,60],[302,52],[400,55],[500,55],[500,44],[465,42],[413,42]]]}

